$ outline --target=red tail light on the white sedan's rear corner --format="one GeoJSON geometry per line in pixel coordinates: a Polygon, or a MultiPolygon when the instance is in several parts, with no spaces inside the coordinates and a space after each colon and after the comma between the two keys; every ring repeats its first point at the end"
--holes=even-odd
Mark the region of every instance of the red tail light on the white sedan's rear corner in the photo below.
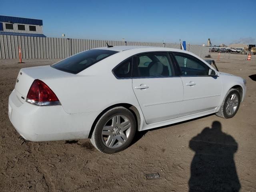
{"type": "Polygon", "coordinates": [[[39,106],[60,105],[59,99],[50,87],[38,79],[32,83],[26,101],[39,106]]]}

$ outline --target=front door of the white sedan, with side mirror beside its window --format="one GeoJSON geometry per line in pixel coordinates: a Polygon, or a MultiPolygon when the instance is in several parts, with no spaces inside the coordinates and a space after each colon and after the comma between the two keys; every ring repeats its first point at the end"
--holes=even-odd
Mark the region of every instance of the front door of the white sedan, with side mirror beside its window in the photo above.
{"type": "Polygon", "coordinates": [[[220,77],[209,76],[210,67],[190,54],[172,54],[180,67],[184,87],[184,101],[179,116],[215,109],[222,93],[220,77]]]}

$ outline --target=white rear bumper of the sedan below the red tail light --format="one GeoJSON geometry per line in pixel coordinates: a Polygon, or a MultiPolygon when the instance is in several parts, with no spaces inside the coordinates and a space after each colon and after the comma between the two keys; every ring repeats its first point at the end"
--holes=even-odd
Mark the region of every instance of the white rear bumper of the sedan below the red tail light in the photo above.
{"type": "Polygon", "coordinates": [[[17,132],[29,141],[73,140],[88,138],[100,112],[66,113],[62,106],[35,106],[9,96],[8,116],[17,132]]]}

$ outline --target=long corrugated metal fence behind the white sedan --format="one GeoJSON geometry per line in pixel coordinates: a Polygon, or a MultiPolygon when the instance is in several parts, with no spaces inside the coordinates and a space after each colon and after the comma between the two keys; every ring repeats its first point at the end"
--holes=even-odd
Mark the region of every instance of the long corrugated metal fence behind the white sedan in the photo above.
{"type": "MultiPolygon", "coordinates": [[[[0,59],[18,59],[18,47],[21,47],[24,59],[55,59],[66,58],[84,50],[104,47],[106,42],[113,46],[156,46],[180,48],[177,43],[154,42],[124,42],[89,39],[66,39],[52,37],[29,37],[0,35],[0,59]]],[[[208,55],[209,47],[200,45],[187,45],[187,50],[200,56],[208,55]]]]}

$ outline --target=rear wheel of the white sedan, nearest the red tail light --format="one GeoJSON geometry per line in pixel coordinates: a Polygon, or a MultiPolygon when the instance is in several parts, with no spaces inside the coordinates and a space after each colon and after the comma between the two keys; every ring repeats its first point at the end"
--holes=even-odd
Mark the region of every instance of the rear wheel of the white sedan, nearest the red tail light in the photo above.
{"type": "Polygon", "coordinates": [[[108,110],[98,119],[90,141],[102,153],[120,152],[130,145],[136,128],[136,120],[132,112],[127,108],[118,106],[108,110]],[[125,124],[128,124],[129,128],[127,125],[124,126],[125,124]]]}

